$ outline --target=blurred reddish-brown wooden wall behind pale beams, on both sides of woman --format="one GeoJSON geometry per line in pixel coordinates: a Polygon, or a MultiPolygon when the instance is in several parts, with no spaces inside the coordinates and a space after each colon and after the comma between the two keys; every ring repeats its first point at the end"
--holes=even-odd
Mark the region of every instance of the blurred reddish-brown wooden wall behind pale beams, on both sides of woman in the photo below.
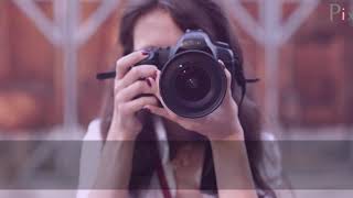
{"type": "MultiPolygon", "coordinates": [[[[50,2],[39,2],[52,16],[50,2]]],[[[84,19],[97,3],[83,3],[84,19]]],[[[257,8],[247,7],[254,15],[257,8]]],[[[288,15],[295,7],[288,7],[288,15]]],[[[114,64],[119,54],[117,10],[79,50],[79,121],[96,117],[103,85],[95,74],[114,64]]],[[[236,25],[236,24],[235,24],[236,25]]],[[[237,26],[247,73],[263,77],[264,48],[237,26]]],[[[288,128],[351,124],[353,121],[353,26],[329,21],[329,8],[318,10],[288,42],[280,54],[280,120],[288,128]]],[[[10,1],[0,1],[0,131],[50,128],[62,123],[62,51],[54,47],[10,1]]],[[[253,85],[263,107],[264,82],[253,85]]]]}

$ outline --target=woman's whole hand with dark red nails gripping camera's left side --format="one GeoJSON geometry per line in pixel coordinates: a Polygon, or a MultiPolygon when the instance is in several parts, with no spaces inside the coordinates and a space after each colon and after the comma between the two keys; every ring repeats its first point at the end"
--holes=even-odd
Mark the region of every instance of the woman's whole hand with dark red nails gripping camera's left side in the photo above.
{"type": "Polygon", "coordinates": [[[158,99],[152,95],[157,88],[151,82],[157,77],[158,68],[153,65],[133,67],[147,57],[148,52],[133,52],[116,64],[114,113],[107,140],[133,141],[143,124],[137,112],[147,105],[158,105],[158,99]],[[145,96],[138,97],[140,95],[145,96]]]}

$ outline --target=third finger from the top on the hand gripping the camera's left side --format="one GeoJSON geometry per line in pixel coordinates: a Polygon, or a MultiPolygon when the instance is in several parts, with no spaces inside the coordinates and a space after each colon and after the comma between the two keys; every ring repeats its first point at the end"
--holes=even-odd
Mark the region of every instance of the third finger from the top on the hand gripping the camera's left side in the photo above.
{"type": "Polygon", "coordinates": [[[116,92],[116,100],[118,102],[127,102],[142,94],[153,95],[152,87],[147,80],[138,80],[127,88],[118,90],[118,92],[116,92]]]}

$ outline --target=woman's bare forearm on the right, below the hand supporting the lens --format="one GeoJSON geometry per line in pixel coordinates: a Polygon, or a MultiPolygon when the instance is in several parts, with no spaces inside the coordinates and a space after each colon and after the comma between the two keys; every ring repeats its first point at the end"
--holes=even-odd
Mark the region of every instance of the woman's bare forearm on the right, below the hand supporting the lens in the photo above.
{"type": "Polygon", "coordinates": [[[211,141],[220,198],[257,198],[243,134],[211,141]]]}

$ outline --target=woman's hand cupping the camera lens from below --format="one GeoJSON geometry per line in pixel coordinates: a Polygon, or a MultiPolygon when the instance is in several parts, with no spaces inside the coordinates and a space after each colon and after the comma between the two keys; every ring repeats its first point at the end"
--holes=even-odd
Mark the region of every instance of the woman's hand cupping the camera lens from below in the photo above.
{"type": "MultiPolygon", "coordinates": [[[[227,77],[227,91],[222,105],[211,114],[204,118],[188,119],[176,116],[169,110],[163,102],[159,88],[154,95],[162,102],[164,108],[159,108],[153,105],[147,105],[145,108],[149,109],[152,113],[167,118],[173,122],[179,123],[181,127],[189,131],[195,131],[207,136],[210,140],[244,140],[243,130],[238,119],[238,106],[234,101],[231,91],[231,73],[225,68],[224,64],[220,61],[220,65],[224,68],[227,77]]],[[[159,85],[160,72],[158,72],[157,80],[153,86],[159,85]]]]}

